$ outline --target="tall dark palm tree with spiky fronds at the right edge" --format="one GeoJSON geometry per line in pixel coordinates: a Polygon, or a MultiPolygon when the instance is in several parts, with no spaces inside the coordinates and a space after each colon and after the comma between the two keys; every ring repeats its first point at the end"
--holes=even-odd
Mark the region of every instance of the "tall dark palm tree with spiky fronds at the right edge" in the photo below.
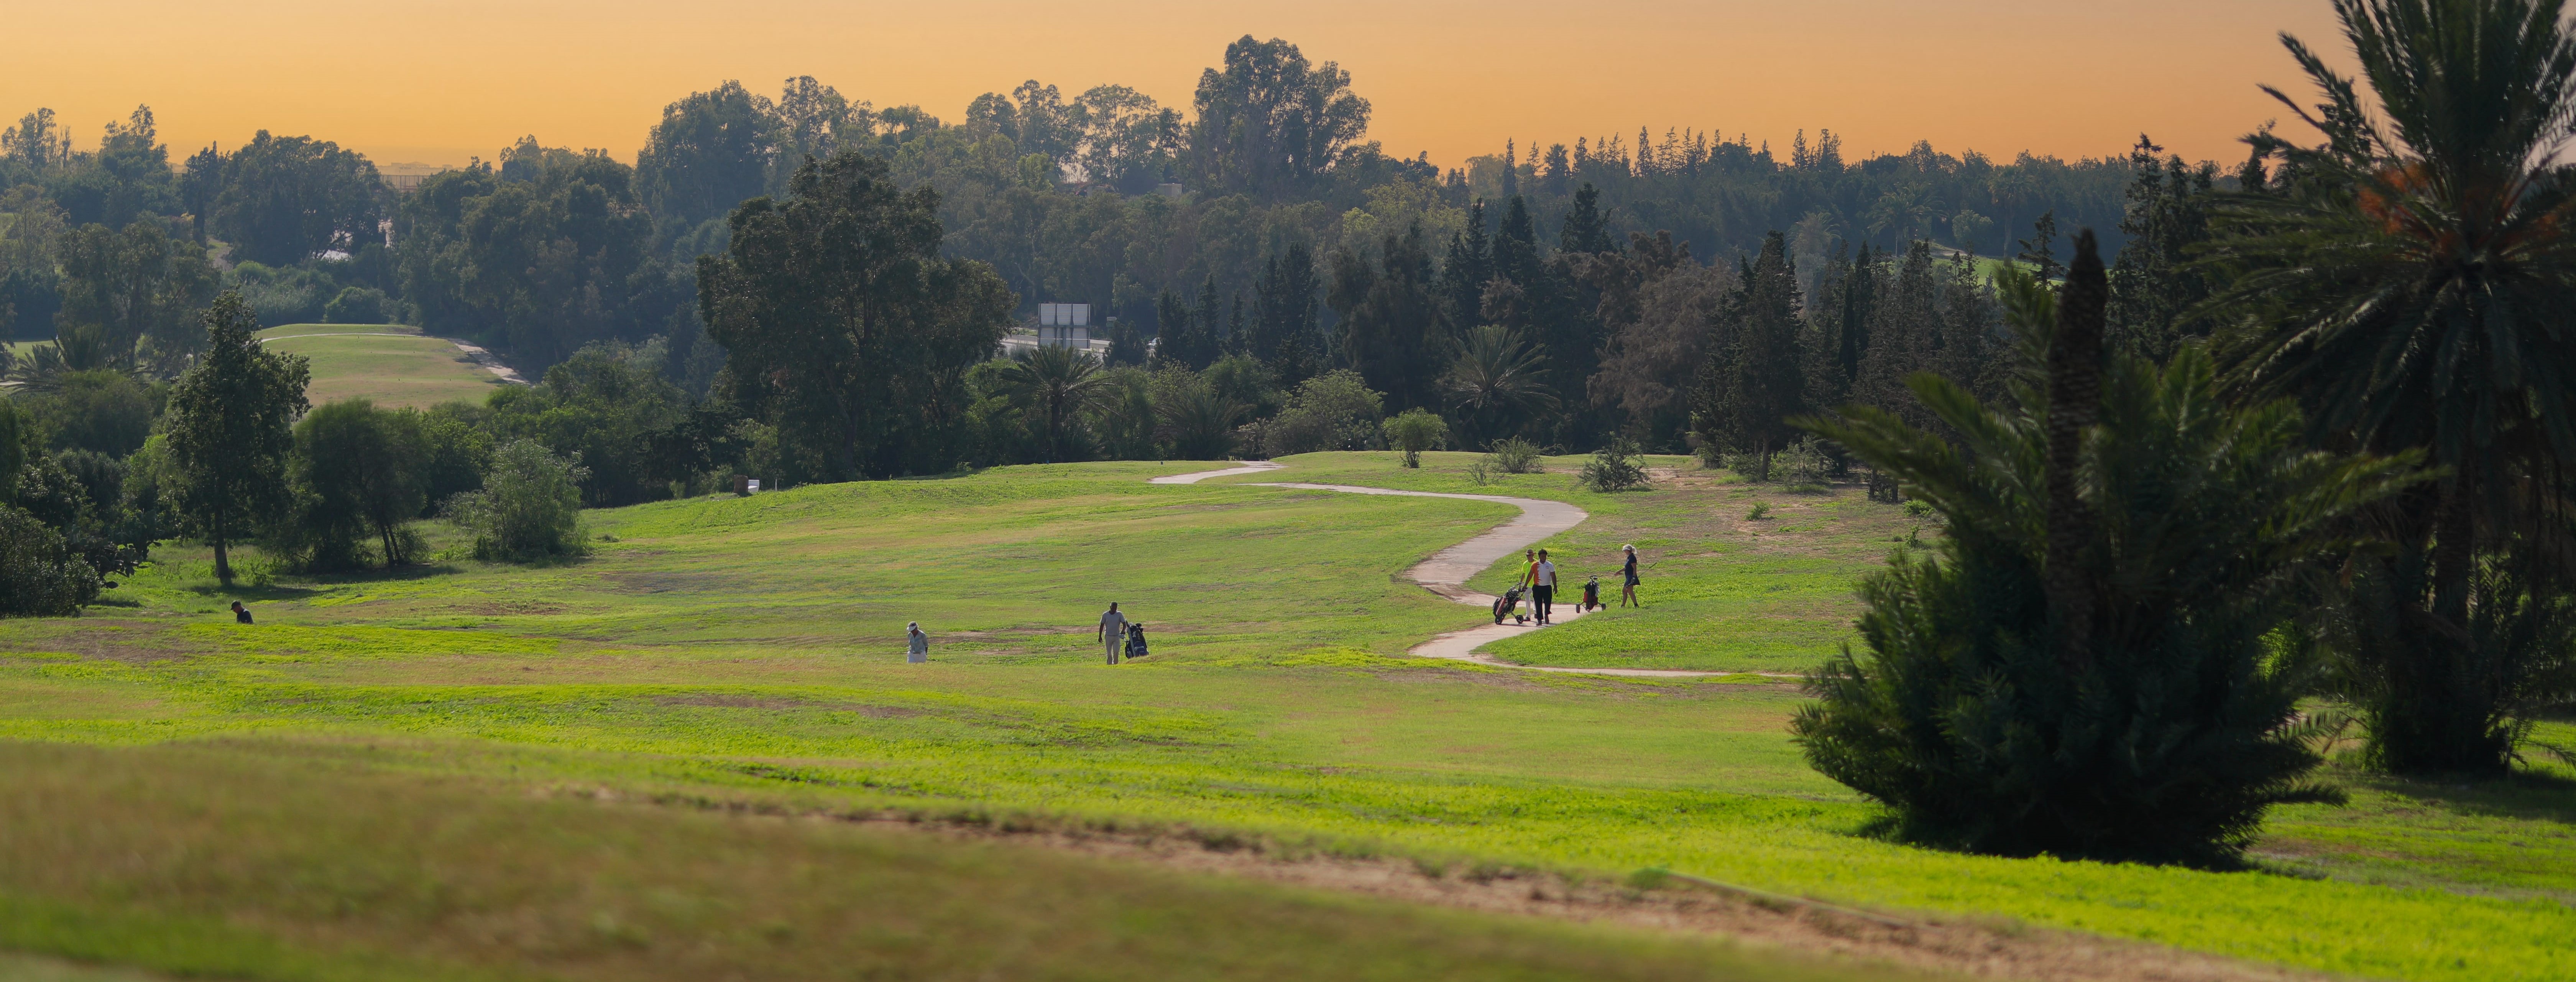
{"type": "Polygon", "coordinates": [[[2476,639],[2494,613],[2473,611],[2481,570],[2522,564],[2535,611],[2576,582],[2535,567],[2571,554],[2558,464],[2576,459],[2576,170],[2558,162],[2576,36],[2561,8],[2334,0],[2360,80],[2285,34],[2324,103],[2311,116],[2272,95],[2324,144],[2249,137],[2275,178],[2218,209],[2210,260],[2241,271],[2213,296],[2233,317],[2218,338],[2231,387],[2295,394],[2326,438],[2442,467],[2378,513],[2401,549],[2365,585],[2396,603],[2383,626],[2398,637],[2354,637],[2378,678],[2372,753],[2398,771],[2506,765],[2532,665],[2499,655],[2530,644],[2476,639]]]}

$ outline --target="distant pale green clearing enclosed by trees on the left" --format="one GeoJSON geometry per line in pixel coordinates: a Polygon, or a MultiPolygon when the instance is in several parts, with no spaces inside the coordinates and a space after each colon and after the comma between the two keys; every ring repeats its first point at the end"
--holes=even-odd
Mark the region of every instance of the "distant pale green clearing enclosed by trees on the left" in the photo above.
{"type": "Polygon", "coordinates": [[[381,407],[482,402],[507,384],[443,338],[404,325],[281,325],[260,332],[268,351],[312,361],[312,405],[374,400],[381,407]]]}

